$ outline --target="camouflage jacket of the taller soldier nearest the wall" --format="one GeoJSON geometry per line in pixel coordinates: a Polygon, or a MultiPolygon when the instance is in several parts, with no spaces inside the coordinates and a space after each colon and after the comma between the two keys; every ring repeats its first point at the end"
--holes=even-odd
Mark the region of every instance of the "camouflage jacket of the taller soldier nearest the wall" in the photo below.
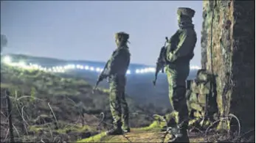
{"type": "Polygon", "coordinates": [[[166,60],[170,63],[189,62],[196,46],[196,32],[193,28],[179,29],[170,37],[167,45],[166,60]]]}

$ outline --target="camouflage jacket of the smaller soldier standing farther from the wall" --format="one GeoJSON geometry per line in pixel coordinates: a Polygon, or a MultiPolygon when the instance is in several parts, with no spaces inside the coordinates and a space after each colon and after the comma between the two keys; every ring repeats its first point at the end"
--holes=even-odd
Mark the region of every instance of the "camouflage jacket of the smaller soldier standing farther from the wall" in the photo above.
{"type": "Polygon", "coordinates": [[[108,59],[108,75],[125,75],[130,65],[130,51],[127,46],[117,48],[108,59]]]}

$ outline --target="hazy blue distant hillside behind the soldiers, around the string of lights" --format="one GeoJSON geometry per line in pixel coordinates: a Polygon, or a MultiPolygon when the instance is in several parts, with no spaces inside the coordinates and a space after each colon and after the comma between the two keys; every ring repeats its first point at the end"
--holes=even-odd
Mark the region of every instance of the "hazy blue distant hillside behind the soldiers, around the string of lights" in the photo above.
{"type": "MultiPolygon", "coordinates": [[[[37,56],[26,56],[26,55],[10,55],[14,57],[15,61],[24,60],[25,62],[37,63],[44,67],[52,67],[57,65],[89,65],[94,67],[104,67],[105,62],[92,62],[92,61],[77,61],[77,60],[63,60],[63,59],[52,59],[46,57],[37,56]]],[[[154,65],[153,65],[154,66],[154,65]]],[[[136,70],[137,68],[150,67],[148,65],[137,65],[131,64],[129,66],[130,70],[136,70]]],[[[152,67],[152,66],[151,66],[152,67]]],[[[189,79],[196,76],[197,70],[190,70],[189,79]]],[[[93,85],[97,81],[98,73],[94,73],[86,70],[69,70],[65,73],[66,76],[74,76],[77,78],[84,78],[89,84],[93,85]]],[[[153,87],[152,81],[154,78],[153,73],[144,74],[131,74],[127,76],[127,87],[126,92],[131,96],[137,103],[148,104],[153,103],[155,106],[162,106],[163,108],[168,108],[170,106],[168,98],[168,86],[167,77],[163,73],[159,73],[158,80],[156,81],[156,87],[153,87]]],[[[108,88],[108,83],[103,81],[100,83],[99,87],[108,88]]]]}

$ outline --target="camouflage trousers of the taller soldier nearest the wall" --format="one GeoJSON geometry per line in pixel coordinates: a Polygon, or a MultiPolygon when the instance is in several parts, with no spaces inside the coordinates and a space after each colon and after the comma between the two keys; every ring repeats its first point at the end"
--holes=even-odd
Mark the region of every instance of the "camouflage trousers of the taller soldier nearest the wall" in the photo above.
{"type": "Polygon", "coordinates": [[[170,105],[173,108],[171,117],[167,117],[168,126],[176,126],[187,130],[188,109],[186,99],[186,80],[190,73],[190,65],[167,65],[170,105]]]}

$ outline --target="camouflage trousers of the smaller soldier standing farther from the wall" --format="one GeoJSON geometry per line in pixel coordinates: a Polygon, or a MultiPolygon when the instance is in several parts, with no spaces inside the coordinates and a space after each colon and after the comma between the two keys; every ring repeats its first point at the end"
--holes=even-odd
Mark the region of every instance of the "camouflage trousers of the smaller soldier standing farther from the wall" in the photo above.
{"type": "Polygon", "coordinates": [[[112,76],[110,79],[110,110],[115,128],[129,128],[129,110],[125,100],[125,76],[112,76]]]}

